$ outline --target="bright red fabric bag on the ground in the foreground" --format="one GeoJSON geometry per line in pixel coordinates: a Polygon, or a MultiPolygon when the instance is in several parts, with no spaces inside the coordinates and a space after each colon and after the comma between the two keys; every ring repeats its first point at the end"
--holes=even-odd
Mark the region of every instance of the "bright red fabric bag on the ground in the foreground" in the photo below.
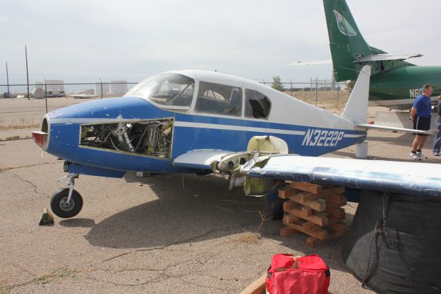
{"type": "Polygon", "coordinates": [[[327,294],[331,273],[318,255],[275,254],[267,275],[267,293],[327,294]]]}

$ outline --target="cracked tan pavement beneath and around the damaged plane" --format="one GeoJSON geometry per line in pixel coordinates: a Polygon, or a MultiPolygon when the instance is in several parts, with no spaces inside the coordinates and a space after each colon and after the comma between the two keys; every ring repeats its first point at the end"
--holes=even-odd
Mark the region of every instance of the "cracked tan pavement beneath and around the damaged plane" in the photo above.
{"type": "MultiPolygon", "coordinates": [[[[411,136],[371,134],[369,155],[407,156],[411,136]]],[[[265,199],[229,192],[218,177],[80,176],[81,213],[38,226],[63,187],[63,161],[41,157],[32,140],[0,142],[0,154],[0,293],[238,293],[265,273],[274,253],[317,253],[331,268],[331,293],[370,293],[342,261],[345,237],[311,249],[305,235],[279,237],[280,222],[264,222],[256,233],[265,199]]],[[[356,204],[345,209],[350,221],[356,204]]]]}

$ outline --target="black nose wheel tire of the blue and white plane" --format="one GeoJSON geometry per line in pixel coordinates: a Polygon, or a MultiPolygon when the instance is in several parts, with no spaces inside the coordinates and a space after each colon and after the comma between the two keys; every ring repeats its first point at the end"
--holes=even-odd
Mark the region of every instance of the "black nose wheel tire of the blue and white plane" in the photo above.
{"type": "Polygon", "coordinates": [[[63,219],[78,215],[83,208],[83,198],[76,190],[72,190],[72,196],[68,202],[69,188],[61,188],[50,198],[52,212],[63,219]]]}

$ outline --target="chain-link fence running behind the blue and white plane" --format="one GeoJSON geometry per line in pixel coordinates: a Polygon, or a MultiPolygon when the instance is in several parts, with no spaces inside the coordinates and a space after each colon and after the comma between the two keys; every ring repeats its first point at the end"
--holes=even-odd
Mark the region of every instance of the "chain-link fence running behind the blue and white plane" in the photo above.
{"type": "MultiPolygon", "coordinates": [[[[273,81],[258,81],[273,86],[273,81]]],[[[0,130],[37,128],[47,112],[92,99],[121,97],[138,81],[65,83],[45,80],[33,84],[0,84],[0,130]],[[29,92],[29,96],[28,96],[29,92]]],[[[281,82],[282,92],[308,104],[339,112],[349,93],[345,83],[310,79],[309,82],[281,82]]],[[[278,85],[278,86],[280,86],[278,85]]]]}

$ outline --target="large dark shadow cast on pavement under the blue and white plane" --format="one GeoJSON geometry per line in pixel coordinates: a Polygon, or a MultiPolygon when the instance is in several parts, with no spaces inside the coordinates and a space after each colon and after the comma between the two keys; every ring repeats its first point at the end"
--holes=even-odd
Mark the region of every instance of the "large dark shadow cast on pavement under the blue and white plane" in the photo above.
{"type": "MultiPolygon", "coordinates": [[[[121,211],[95,224],[85,236],[91,245],[151,248],[201,242],[236,233],[255,233],[261,223],[256,210],[263,210],[266,206],[266,199],[247,198],[242,190],[229,192],[227,181],[219,177],[175,174],[138,178],[129,173],[126,179],[127,182],[150,185],[159,199],[121,211]]],[[[259,233],[281,242],[287,247],[285,253],[318,254],[331,268],[348,271],[341,257],[345,237],[311,249],[306,245],[306,235],[280,237],[281,227],[281,221],[269,220],[259,233]]]]}

